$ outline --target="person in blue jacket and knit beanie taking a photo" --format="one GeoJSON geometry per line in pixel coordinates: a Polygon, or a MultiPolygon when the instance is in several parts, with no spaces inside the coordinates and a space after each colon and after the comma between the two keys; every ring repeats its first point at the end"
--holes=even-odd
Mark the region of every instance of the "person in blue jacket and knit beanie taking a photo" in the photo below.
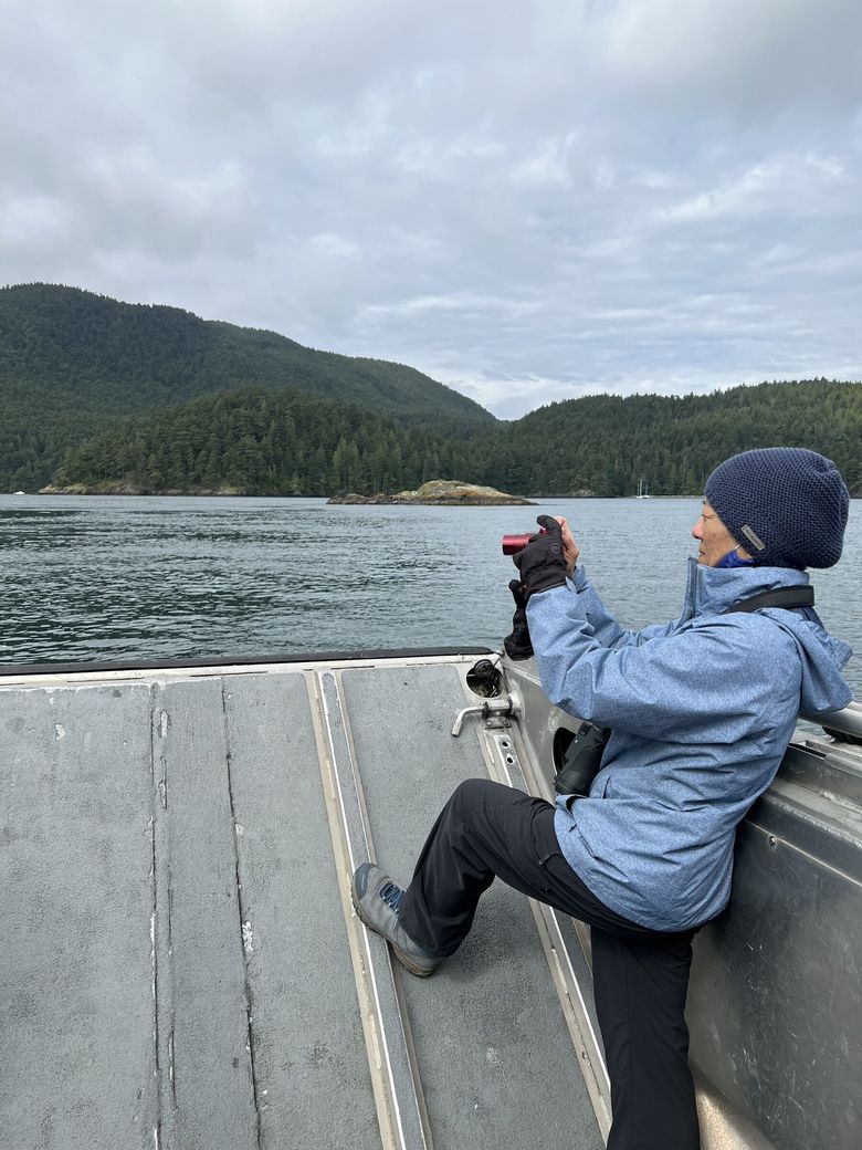
{"type": "Polygon", "coordinates": [[[803,605],[806,568],[840,557],[847,509],[838,469],[816,452],[725,460],[692,530],[683,613],[640,631],[603,606],[565,520],[539,516],[546,534],[515,557],[507,647],[532,644],[551,703],[610,728],[588,796],[554,806],[468,780],[406,890],[371,862],[354,875],[357,915],[417,975],[454,954],[495,876],[591,926],[609,1150],[700,1144],[684,1013],[692,937],[729,900],[736,827],[800,712],[852,698],[849,647],[803,605]],[[776,591],[796,605],[756,607],[776,591]]]}

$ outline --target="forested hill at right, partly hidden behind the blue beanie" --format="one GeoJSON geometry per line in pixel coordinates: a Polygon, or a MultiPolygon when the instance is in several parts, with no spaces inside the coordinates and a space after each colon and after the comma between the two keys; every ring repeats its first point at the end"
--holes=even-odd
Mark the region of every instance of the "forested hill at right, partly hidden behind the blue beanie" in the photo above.
{"type": "Polygon", "coordinates": [[[708,396],[593,396],[501,424],[482,482],[507,491],[698,494],[729,455],[785,444],[833,459],[862,494],[862,383],[807,379],[708,396]]]}

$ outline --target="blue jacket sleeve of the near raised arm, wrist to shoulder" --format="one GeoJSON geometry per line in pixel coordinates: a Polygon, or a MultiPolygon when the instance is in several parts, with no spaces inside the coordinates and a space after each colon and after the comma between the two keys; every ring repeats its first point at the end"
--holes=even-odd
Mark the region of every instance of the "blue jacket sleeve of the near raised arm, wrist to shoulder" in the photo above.
{"type": "Polygon", "coordinates": [[[756,642],[747,616],[662,628],[651,642],[642,642],[644,632],[625,642],[621,629],[623,642],[606,646],[572,600],[571,590],[554,588],[529,601],[539,676],[553,704],[602,727],[642,738],[731,743],[757,727],[784,690],[776,668],[785,680],[793,680],[788,667],[800,674],[799,659],[788,665],[783,652],[756,642]]]}

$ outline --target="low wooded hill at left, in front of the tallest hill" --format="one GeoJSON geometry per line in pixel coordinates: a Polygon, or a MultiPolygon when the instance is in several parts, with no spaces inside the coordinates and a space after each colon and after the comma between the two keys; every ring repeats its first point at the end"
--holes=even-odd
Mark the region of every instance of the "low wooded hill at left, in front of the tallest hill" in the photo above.
{"type": "Polygon", "coordinates": [[[462,443],[293,388],[244,388],[121,421],[72,448],[59,485],[259,496],[394,491],[449,475],[462,443]]]}

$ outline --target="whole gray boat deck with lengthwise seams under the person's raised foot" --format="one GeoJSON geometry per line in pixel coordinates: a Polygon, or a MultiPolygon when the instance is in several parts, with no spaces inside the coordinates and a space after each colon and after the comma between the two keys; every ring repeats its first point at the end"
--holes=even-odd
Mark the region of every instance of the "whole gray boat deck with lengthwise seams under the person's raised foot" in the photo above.
{"type": "Polygon", "coordinates": [[[461,780],[532,785],[451,734],[475,661],[0,680],[10,1150],[603,1144],[570,922],[495,884],[420,981],[352,911],[461,780]]]}

